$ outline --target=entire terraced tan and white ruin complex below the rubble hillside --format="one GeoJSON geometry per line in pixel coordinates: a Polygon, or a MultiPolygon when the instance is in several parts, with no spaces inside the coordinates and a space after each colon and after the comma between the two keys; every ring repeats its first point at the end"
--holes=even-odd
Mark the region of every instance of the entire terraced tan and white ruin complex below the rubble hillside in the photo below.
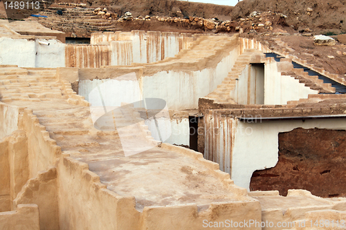
{"type": "Polygon", "coordinates": [[[343,229],[345,79],[237,34],[64,41],[0,21],[0,229],[343,229]]]}

